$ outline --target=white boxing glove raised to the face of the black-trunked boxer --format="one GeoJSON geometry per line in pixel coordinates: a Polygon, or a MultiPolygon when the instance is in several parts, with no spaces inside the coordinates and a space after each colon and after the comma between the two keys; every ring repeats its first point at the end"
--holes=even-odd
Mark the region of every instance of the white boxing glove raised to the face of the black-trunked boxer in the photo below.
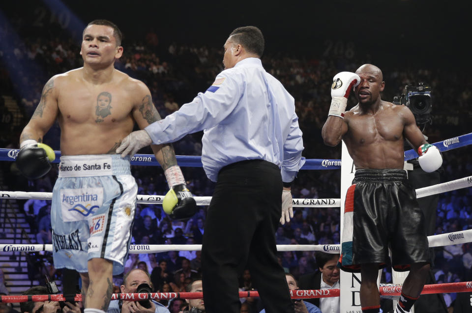
{"type": "Polygon", "coordinates": [[[329,107],[329,115],[344,118],[348,97],[353,87],[359,85],[359,75],[351,72],[341,72],[333,77],[333,85],[331,85],[331,106],[329,107]]]}

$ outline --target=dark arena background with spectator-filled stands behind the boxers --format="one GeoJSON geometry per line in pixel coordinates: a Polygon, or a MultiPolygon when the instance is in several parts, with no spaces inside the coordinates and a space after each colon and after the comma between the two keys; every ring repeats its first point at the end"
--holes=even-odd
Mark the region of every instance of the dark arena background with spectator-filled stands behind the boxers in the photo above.
{"type": "MultiPolygon", "coordinates": [[[[321,137],[331,101],[332,78],[340,71],[354,72],[364,63],[382,69],[383,100],[400,99],[406,85],[416,87],[423,83],[430,88],[431,113],[419,125],[428,142],[440,142],[447,147],[457,143],[454,138],[472,132],[470,10],[463,5],[464,1],[413,0],[1,1],[0,148],[4,149],[4,161],[0,163],[0,193],[52,192],[57,166],[40,179],[28,180],[11,162],[14,158],[8,160],[14,150],[7,155],[5,149],[19,148],[20,133],[48,79],[82,66],[79,55],[82,31],[94,19],[110,20],[121,29],[124,53],[115,67],[149,87],[161,117],[175,112],[212,84],[223,70],[223,44],[234,28],[259,27],[266,40],[262,57],[266,71],[295,97],[303,131],[303,156],[328,164],[328,160],[341,159],[340,145],[328,147],[321,137]]],[[[350,98],[347,109],[355,103],[354,97],[350,98]]],[[[201,155],[202,135],[187,135],[176,142],[176,154],[201,155]]],[[[44,142],[59,150],[59,136],[56,123],[44,142]]],[[[409,149],[407,145],[406,150],[409,149]]],[[[139,153],[151,154],[151,150],[147,147],[139,153]]],[[[470,146],[444,151],[442,156],[439,180],[433,183],[428,177],[420,177],[415,181],[419,187],[472,174],[470,146]]],[[[294,199],[339,199],[339,164],[329,166],[327,170],[300,171],[292,186],[294,199]],[[333,168],[328,169],[329,166],[333,168]]],[[[214,184],[202,168],[182,167],[182,171],[195,196],[211,196],[214,184]]],[[[132,173],[138,182],[138,195],[167,193],[160,167],[133,166],[132,173]]],[[[444,192],[421,203],[428,235],[457,234],[472,228],[470,187],[444,192]]],[[[205,224],[207,206],[199,208],[194,218],[176,223],[170,221],[162,206],[138,204],[133,243],[201,244],[201,235],[196,234],[205,224]]],[[[45,285],[45,276],[61,288],[62,272],[54,268],[51,252],[19,252],[14,248],[15,244],[51,243],[49,210],[49,200],[0,198],[0,245],[11,245],[3,245],[0,251],[0,295],[18,295],[30,286],[45,285]]],[[[294,207],[294,214],[290,223],[278,229],[278,244],[339,244],[339,207],[298,206],[294,207]]],[[[460,235],[450,237],[451,241],[464,239],[460,235]]],[[[470,242],[472,237],[463,243],[431,249],[434,256],[431,280],[471,281],[470,242]]],[[[169,260],[174,254],[142,254],[139,260],[152,273],[156,267],[160,271],[159,260],[169,260]]],[[[200,270],[199,254],[179,255],[190,259],[192,269],[200,270]]],[[[128,270],[136,265],[131,256],[128,270]]],[[[280,262],[295,278],[318,271],[313,252],[280,252],[280,262]]],[[[179,285],[179,277],[174,278],[173,273],[181,267],[179,259],[172,266],[170,261],[167,263],[169,275],[176,280],[174,285],[179,285]]],[[[114,277],[117,287],[121,282],[122,276],[114,277]]],[[[383,271],[381,282],[392,282],[390,270],[383,271]]],[[[247,284],[241,278],[241,290],[247,284]]],[[[165,289],[163,285],[153,287],[155,291],[165,289]]],[[[466,311],[458,309],[464,296],[469,301],[470,292],[442,293],[435,300],[440,303],[436,311],[419,307],[415,312],[472,312],[470,307],[466,311]]],[[[389,312],[386,301],[383,300],[383,312],[389,312]]],[[[256,301],[251,312],[260,311],[257,305],[256,301]]],[[[19,312],[19,305],[10,307],[0,302],[0,313],[12,310],[19,312]]]]}

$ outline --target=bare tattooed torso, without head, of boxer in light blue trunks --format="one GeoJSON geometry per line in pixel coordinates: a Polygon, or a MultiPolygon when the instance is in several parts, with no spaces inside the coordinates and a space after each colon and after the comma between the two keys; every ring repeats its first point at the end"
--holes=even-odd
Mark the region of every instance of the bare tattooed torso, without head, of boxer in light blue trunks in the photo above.
{"type": "Polygon", "coordinates": [[[79,68],[48,81],[31,120],[49,124],[57,118],[62,155],[108,154],[115,153],[135,121],[145,127],[160,119],[156,114],[142,82],[114,69],[108,82],[93,84],[79,68]]]}

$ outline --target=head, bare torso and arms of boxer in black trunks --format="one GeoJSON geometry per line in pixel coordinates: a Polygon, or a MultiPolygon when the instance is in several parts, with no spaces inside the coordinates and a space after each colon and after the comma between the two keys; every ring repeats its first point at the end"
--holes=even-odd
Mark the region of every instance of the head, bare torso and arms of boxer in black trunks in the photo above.
{"type": "Polygon", "coordinates": [[[404,139],[417,149],[426,143],[413,113],[405,106],[383,101],[384,82],[380,69],[366,64],[356,74],[358,103],[344,119],[328,116],[322,135],[328,145],[346,143],[356,169],[403,169],[404,139]]]}

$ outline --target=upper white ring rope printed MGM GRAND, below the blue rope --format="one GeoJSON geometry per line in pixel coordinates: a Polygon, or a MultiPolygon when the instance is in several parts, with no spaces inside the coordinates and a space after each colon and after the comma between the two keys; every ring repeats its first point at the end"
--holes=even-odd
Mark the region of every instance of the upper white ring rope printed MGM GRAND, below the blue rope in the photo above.
{"type": "MultiPolygon", "coordinates": [[[[451,180],[445,183],[416,189],[416,198],[428,197],[452,190],[472,187],[472,176],[451,180]]],[[[0,191],[0,199],[38,199],[51,200],[53,193],[25,192],[25,191],[0,191]]],[[[164,196],[138,195],[138,203],[162,204],[164,196]]],[[[210,204],[211,197],[194,197],[197,205],[210,204]]],[[[340,207],[341,199],[293,199],[295,207],[340,207]]]]}

